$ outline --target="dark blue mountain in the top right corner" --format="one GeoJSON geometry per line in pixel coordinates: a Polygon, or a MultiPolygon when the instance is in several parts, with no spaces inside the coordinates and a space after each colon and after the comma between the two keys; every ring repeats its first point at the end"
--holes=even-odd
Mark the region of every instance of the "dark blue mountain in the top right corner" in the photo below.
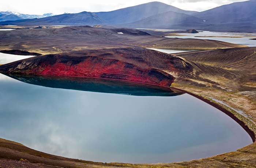
{"type": "Polygon", "coordinates": [[[256,0],[222,5],[192,15],[205,20],[204,24],[211,29],[256,32],[256,0]]]}

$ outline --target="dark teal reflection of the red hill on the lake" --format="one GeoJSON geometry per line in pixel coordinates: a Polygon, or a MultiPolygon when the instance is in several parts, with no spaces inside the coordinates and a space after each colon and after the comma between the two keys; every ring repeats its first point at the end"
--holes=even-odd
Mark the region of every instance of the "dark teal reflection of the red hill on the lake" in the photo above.
{"type": "Polygon", "coordinates": [[[176,96],[183,94],[181,91],[171,88],[110,79],[3,74],[22,82],[53,88],[137,96],[176,96]]]}

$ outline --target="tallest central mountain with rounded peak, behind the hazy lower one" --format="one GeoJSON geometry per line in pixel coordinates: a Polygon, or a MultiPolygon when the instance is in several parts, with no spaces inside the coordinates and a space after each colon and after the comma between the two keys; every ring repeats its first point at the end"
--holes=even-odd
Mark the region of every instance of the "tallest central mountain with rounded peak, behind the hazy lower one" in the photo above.
{"type": "Polygon", "coordinates": [[[150,2],[133,7],[118,9],[115,11],[95,13],[102,19],[107,20],[112,24],[127,24],[168,11],[185,13],[188,15],[197,13],[196,11],[185,11],[161,2],[150,2]]]}

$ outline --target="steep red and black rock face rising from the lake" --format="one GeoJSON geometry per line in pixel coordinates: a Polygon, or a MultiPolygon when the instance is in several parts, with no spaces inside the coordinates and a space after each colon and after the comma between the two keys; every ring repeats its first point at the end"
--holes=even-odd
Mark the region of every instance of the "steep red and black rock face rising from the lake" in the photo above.
{"type": "MultiPolygon", "coordinates": [[[[93,50],[95,51],[95,50],[93,50]]],[[[136,54],[136,53],[135,53],[136,54]]],[[[90,77],[141,82],[170,86],[174,77],[148,66],[147,61],[138,63],[122,61],[124,54],[97,52],[69,52],[28,58],[0,66],[0,71],[17,74],[90,77]],[[100,54],[100,55],[99,55],[100,54]],[[120,58],[116,58],[120,55],[120,58]]]]}

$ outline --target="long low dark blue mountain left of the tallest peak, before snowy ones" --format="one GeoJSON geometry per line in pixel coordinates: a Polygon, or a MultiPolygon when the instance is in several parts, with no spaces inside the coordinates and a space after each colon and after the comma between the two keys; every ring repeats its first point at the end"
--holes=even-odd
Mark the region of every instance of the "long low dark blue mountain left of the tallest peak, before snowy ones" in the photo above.
{"type": "Polygon", "coordinates": [[[0,24],[16,24],[16,25],[64,25],[64,26],[94,26],[96,24],[110,24],[106,20],[99,18],[95,13],[80,12],[66,13],[44,17],[41,19],[23,19],[15,21],[0,22],[0,24]]]}

